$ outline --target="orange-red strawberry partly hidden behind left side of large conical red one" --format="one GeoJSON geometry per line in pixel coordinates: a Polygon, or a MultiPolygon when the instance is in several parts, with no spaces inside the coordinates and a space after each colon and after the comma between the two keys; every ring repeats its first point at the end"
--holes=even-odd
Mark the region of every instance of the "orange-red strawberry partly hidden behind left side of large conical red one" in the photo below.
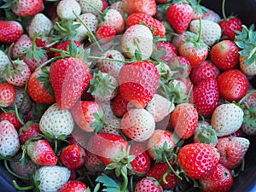
{"type": "Polygon", "coordinates": [[[55,102],[55,97],[52,96],[52,93],[50,94],[49,84],[49,67],[43,67],[32,73],[27,84],[27,90],[34,102],[39,104],[52,104],[55,102]],[[45,75],[48,76],[48,79],[45,79],[46,82],[39,81],[45,75]]]}

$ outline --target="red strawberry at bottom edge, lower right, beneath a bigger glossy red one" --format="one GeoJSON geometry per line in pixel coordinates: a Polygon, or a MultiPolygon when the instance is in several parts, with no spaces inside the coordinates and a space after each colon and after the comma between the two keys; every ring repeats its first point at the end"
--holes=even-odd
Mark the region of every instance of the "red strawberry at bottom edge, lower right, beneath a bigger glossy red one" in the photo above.
{"type": "Polygon", "coordinates": [[[220,163],[207,176],[199,180],[203,191],[208,192],[228,192],[233,186],[234,179],[229,169],[220,163]]]}

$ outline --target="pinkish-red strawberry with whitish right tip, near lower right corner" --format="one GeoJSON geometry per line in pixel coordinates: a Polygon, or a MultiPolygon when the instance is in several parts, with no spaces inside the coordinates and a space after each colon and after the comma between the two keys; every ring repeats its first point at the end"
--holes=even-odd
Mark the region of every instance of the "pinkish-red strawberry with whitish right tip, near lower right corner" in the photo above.
{"type": "Polygon", "coordinates": [[[241,164],[249,145],[249,140],[244,137],[219,138],[215,146],[220,154],[219,163],[228,169],[235,169],[241,164]]]}

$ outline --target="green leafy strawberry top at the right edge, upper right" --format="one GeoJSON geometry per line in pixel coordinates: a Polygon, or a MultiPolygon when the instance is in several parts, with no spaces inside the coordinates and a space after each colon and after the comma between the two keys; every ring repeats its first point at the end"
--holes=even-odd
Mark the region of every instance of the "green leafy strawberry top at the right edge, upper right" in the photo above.
{"type": "Polygon", "coordinates": [[[242,26],[242,30],[236,31],[236,45],[241,48],[239,54],[246,56],[246,65],[256,63],[256,31],[254,31],[254,25],[249,28],[242,26]]]}

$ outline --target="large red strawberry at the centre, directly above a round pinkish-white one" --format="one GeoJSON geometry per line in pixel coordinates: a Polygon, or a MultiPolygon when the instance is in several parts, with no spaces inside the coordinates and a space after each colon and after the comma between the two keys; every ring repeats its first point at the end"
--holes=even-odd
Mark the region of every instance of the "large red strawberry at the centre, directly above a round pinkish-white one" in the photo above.
{"type": "Polygon", "coordinates": [[[159,73],[153,62],[127,63],[119,73],[119,91],[126,101],[144,108],[152,100],[158,81],[159,73]]]}

